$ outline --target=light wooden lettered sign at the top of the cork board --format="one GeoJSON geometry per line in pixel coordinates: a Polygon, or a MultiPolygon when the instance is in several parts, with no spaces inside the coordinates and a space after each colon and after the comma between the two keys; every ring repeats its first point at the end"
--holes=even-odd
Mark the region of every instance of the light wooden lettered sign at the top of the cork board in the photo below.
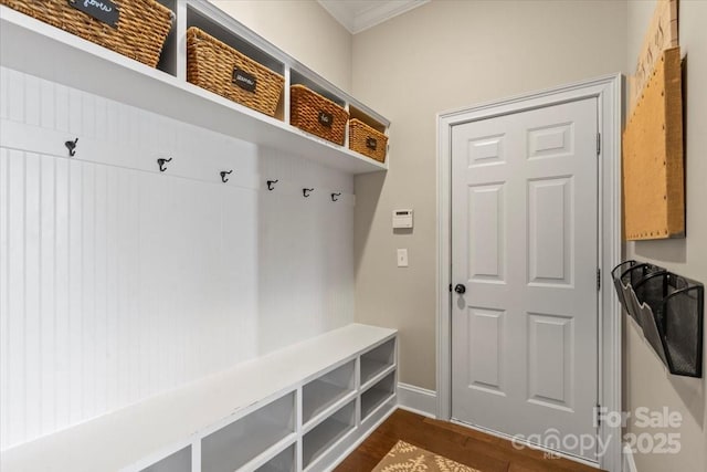
{"type": "Polygon", "coordinates": [[[653,76],[663,51],[678,45],[677,27],[677,0],[658,0],[643,39],[635,73],[629,77],[629,116],[633,113],[645,84],[653,76]]]}

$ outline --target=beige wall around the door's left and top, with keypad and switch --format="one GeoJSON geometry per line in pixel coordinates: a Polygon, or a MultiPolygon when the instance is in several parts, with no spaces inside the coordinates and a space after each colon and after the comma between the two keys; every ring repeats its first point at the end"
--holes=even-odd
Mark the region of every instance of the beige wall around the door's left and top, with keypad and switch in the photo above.
{"type": "Polygon", "coordinates": [[[435,389],[436,114],[622,72],[625,27],[623,1],[432,1],[354,36],[354,95],[392,122],[390,170],[356,178],[356,316],[400,329],[401,381],[435,389]]]}

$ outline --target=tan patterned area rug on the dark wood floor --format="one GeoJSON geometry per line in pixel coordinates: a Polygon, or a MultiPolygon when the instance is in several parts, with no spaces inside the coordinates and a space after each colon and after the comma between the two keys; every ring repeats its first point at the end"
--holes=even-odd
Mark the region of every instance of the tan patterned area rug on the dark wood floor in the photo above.
{"type": "Polygon", "coordinates": [[[479,472],[451,459],[398,441],[372,472],[479,472]]]}

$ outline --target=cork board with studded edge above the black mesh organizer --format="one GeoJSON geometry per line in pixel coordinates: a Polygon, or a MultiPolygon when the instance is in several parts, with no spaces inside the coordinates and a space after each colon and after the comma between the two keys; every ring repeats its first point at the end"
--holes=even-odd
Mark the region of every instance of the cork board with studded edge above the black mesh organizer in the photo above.
{"type": "Polygon", "coordinates": [[[662,53],[623,134],[624,237],[685,235],[680,50],[662,53]]]}

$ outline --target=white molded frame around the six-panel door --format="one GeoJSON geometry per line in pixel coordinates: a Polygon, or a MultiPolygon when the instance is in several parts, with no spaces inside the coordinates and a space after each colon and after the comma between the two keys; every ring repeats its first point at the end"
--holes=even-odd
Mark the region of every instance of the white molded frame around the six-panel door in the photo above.
{"type": "MultiPolygon", "coordinates": [[[[598,98],[599,251],[602,283],[599,303],[599,402],[621,411],[621,311],[611,270],[621,262],[621,75],[609,75],[437,115],[437,418],[452,416],[451,251],[452,126],[584,98],[598,98]]],[[[609,444],[599,465],[621,471],[621,427],[602,421],[599,436],[609,444]]]]}

